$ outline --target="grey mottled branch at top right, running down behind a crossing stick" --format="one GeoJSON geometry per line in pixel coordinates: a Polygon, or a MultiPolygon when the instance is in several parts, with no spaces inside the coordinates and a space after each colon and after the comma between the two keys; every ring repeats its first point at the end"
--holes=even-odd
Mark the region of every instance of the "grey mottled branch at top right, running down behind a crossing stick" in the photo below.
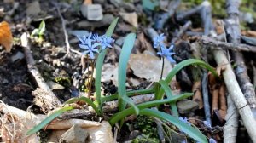
{"type": "MultiPolygon", "coordinates": [[[[226,7],[228,13],[228,19],[225,20],[225,31],[228,36],[228,42],[240,43],[241,41],[241,30],[239,24],[239,0],[227,0],[226,7]]],[[[256,96],[253,84],[247,75],[247,66],[243,54],[240,52],[232,52],[232,56],[236,61],[236,78],[241,87],[241,91],[247,100],[248,105],[251,107],[254,117],[256,117],[256,96]]],[[[251,136],[252,137],[252,136],[251,136]]],[[[254,140],[256,141],[256,140],[254,140]]]]}

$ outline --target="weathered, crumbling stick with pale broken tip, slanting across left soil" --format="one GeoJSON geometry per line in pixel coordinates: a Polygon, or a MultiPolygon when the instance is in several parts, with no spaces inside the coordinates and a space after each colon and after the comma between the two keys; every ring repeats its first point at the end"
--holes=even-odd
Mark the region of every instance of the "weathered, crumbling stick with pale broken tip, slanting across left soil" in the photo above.
{"type": "MultiPolygon", "coordinates": [[[[49,89],[47,83],[45,83],[44,78],[41,76],[40,72],[38,71],[38,67],[35,66],[35,60],[32,57],[32,51],[28,36],[26,33],[23,33],[20,37],[21,46],[24,50],[24,54],[26,57],[26,63],[28,71],[31,72],[32,77],[38,84],[38,87],[44,90],[44,98],[42,98],[41,102],[44,102],[44,106],[40,106],[44,109],[44,112],[49,112],[58,106],[61,106],[61,101],[55,96],[55,94],[49,89]]],[[[36,97],[37,98],[37,97],[36,97]]]]}

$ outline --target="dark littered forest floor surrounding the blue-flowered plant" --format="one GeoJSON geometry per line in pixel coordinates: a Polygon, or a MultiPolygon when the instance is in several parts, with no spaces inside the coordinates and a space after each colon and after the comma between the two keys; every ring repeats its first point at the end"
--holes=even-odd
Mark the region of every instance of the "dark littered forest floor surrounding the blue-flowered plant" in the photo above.
{"type": "MultiPolygon", "coordinates": [[[[30,111],[34,114],[46,114],[49,112],[42,110],[41,106],[35,103],[34,91],[38,88],[38,83],[32,77],[27,67],[27,55],[20,41],[23,33],[32,34],[32,31],[38,28],[42,20],[45,22],[43,39],[40,39],[38,36],[30,37],[30,50],[35,60],[34,66],[38,67],[38,72],[44,78],[45,83],[49,85],[49,88],[52,89],[61,103],[78,96],[78,94],[84,95],[88,91],[86,89],[88,77],[84,74],[81,64],[81,55],[79,52],[82,49],[79,49],[79,39],[77,36],[88,36],[90,32],[103,35],[116,17],[119,17],[119,22],[112,36],[115,42],[113,48],[108,50],[108,54],[104,60],[104,66],[102,67],[103,95],[115,94],[118,91],[117,71],[119,54],[124,43],[124,37],[130,32],[136,33],[137,39],[131,52],[131,59],[129,60],[127,69],[126,89],[128,90],[150,88],[154,82],[160,79],[161,60],[156,54],[157,51],[153,48],[153,37],[155,37],[155,34],[164,33],[166,35],[165,43],[168,43],[167,45],[171,43],[175,44],[173,50],[176,54],[173,56],[173,59],[177,63],[183,60],[197,58],[207,61],[213,67],[217,67],[218,64],[214,60],[213,54],[209,50],[210,48],[206,48],[207,45],[211,45],[211,43],[207,42],[212,39],[212,35],[213,37],[219,37],[220,41],[227,40],[225,36],[229,34],[229,31],[224,32],[225,27],[223,23],[228,14],[225,12],[223,1],[212,3],[212,20],[204,19],[203,14],[201,14],[203,11],[201,9],[204,6],[201,2],[180,2],[178,0],[172,1],[172,4],[168,0],[160,0],[160,5],[156,4],[156,6],[150,2],[147,3],[139,0],[132,0],[131,2],[95,0],[93,2],[94,4],[98,3],[102,6],[103,17],[100,18],[102,20],[88,20],[88,17],[86,18],[81,12],[81,9],[84,9],[83,5],[86,5],[85,2],[90,1],[84,1],[84,3],[79,0],[60,0],[58,2],[43,0],[0,1],[0,22],[7,21],[9,23],[14,37],[10,52],[4,50],[4,47],[0,47],[0,100],[2,103],[23,111],[30,108],[30,111]],[[198,9],[195,13],[185,15],[186,11],[195,9],[198,6],[202,8],[198,9]],[[58,13],[57,9],[60,9],[61,13],[58,13]],[[61,16],[63,16],[62,20],[61,16]],[[204,26],[209,26],[206,24],[207,20],[212,23],[210,24],[209,31],[206,31],[207,28],[204,29],[204,26]],[[66,25],[65,29],[63,29],[63,24],[66,25]],[[64,31],[67,31],[67,35],[64,34],[64,31]],[[212,34],[212,31],[215,31],[215,36],[212,34]],[[204,36],[207,37],[203,39],[204,36]],[[208,37],[210,40],[207,39],[208,37]],[[67,56],[65,56],[67,54],[67,42],[65,38],[68,38],[68,44],[70,44],[70,48],[72,49],[67,56]],[[146,66],[142,66],[142,64],[146,66]]],[[[256,37],[256,21],[255,14],[246,9],[247,4],[254,4],[254,8],[252,7],[252,9],[255,9],[256,6],[253,2],[243,2],[241,4],[241,43],[250,47],[247,51],[241,47],[243,45],[235,47],[241,47],[241,51],[245,51],[242,54],[245,57],[247,75],[253,84],[253,92],[255,92],[256,58],[253,55],[256,50],[253,46],[256,46],[256,38],[254,38],[256,37]]],[[[90,14],[93,18],[101,17],[101,14],[90,14]]],[[[217,40],[212,42],[213,46],[216,44],[217,40]]],[[[225,51],[227,51],[226,49],[225,51]]],[[[226,54],[228,55],[228,52],[226,54]]],[[[231,59],[231,65],[236,66],[234,59],[231,59]]],[[[167,73],[173,67],[173,64],[166,62],[163,77],[166,77],[167,73]]],[[[202,84],[204,84],[204,72],[198,70],[197,66],[184,68],[182,72],[176,75],[176,79],[170,83],[171,89],[174,93],[178,94],[194,92],[198,95],[199,93],[197,92],[200,92],[200,95],[194,98],[182,100],[177,103],[179,114],[181,117],[188,117],[189,122],[194,123],[208,138],[214,138],[218,142],[223,142],[223,129],[226,123],[225,116],[229,109],[226,101],[227,92],[225,90],[227,89],[224,88],[223,78],[220,81],[215,81],[217,79],[213,79],[214,77],[209,73],[209,83],[206,85],[209,90],[207,96],[209,98],[208,105],[210,105],[210,118],[212,120],[212,129],[209,129],[201,122],[206,120],[204,108],[206,103],[204,103],[205,100],[202,97],[204,95],[201,92],[202,84]],[[224,96],[219,95],[216,97],[213,95],[214,91],[224,96]]],[[[94,85],[91,90],[95,91],[94,85]]],[[[162,106],[162,108],[165,112],[171,112],[168,106],[162,106]]],[[[104,119],[108,119],[115,111],[116,109],[107,112],[104,119]]],[[[2,110],[1,113],[3,116],[4,112],[2,110]]],[[[101,117],[94,116],[78,116],[76,118],[90,119],[97,122],[102,121],[101,117]]],[[[134,139],[145,134],[147,136],[143,136],[146,140],[144,140],[145,142],[160,142],[156,123],[154,123],[152,118],[139,116],[136,119],[136,117],[131,116],[125,120],[126,123],[117,137],[115,137],[115,140],[119,142],[128,140],[137,141],[134,139]]],[[[1,124],[1,128],[3,128],[3,123],[1,124]]],[[[40,133],[46,134],[46,137],[43,137],[45,138],[44,140],[48,140],[49,134],[52,134],[50,131],[42,131],[40,133]]],[[[238,134],[236,138],[237,142],[249,140],[243,123],[239,123],[238,134]]],[[[42,134],[38,136],[42,137],[42,134]]],[[[172,135],[171,138],[173,142],[195,142],[189,138],[187,140],[187,137],[184,136],[172,135]]],[[[3,135],[3,132],[1,137],[1,141],[7,141],[7,137],[3,135]]]]}

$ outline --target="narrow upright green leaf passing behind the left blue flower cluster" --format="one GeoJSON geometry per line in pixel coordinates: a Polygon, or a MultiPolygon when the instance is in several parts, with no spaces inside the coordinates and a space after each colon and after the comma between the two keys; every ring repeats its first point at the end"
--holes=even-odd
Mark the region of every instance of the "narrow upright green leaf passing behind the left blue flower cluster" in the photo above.
{"type": "MultiPolygon", "coordinates": [[[[108,27],[108,30],[106,32],[107,37],[111,37],[113,34],[113,30],[115,26],[117,25],[119,18],[116,18],[113,20],[113,22],[108,27]]],[[[96,100],[99,105],[99,111],[102,114],[102,97],[101,97],[101,87],[102,87],[102,66],[105,59],[105,56],[107,54],[107,49],[103,49],[102,52],[98,55],[98,58],[96,60],[96,79],[95,79],[95,88],[96,88],[96,100]]]]}

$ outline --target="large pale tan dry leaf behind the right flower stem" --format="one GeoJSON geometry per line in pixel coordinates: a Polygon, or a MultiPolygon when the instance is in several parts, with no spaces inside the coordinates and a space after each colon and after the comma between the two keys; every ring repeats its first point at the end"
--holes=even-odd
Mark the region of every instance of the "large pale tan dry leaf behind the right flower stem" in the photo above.
{"type": "MultiPolygon", "coordinates": [[[[162,67],[162,60],[150,54],[131,54],[129,65],[133,74],[137,77],[145,78],[150,82],[158,82],[162,67]]],[[[172,65],[165,60],[163,78],[172,70],[172,65]]]]}

